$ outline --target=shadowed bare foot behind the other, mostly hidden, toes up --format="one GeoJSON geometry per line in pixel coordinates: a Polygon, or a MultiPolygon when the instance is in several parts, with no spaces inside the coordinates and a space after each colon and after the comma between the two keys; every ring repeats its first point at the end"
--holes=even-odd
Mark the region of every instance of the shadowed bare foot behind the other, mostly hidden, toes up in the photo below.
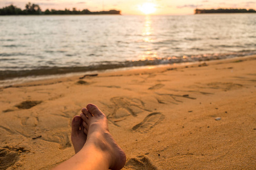
{"type": "Polygon", "coordinates": [[[86,142],[87,135],[84,133],[82,126],[82,118],[80,116],[73,117],[71,141],[73,143],[75,153],[79,152],[86,142]]]}

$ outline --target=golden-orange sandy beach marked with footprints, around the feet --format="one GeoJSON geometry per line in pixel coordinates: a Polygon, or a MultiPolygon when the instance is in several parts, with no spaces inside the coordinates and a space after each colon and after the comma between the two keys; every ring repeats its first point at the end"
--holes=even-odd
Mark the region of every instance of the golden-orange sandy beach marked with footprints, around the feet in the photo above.
{"type": "Polygon", "coordinates": [[[256,56],[72,76],[0,88],[0,169],[51,169],[75,154],[89,103],[126,152],[123,169],[255,169],[256,56]]]}

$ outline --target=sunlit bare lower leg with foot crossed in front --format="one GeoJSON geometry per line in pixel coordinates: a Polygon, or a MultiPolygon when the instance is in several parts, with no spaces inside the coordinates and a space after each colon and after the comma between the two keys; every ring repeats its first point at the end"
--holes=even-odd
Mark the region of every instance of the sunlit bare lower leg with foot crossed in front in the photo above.
{"type": "Polygon", "coordinates": [[[121,169],[125,165],[125,152],[115,143],[109,133],[108,120],[104,113],[89,104],[82,109],[85,145],[76,155],[61,163],[56,169],[121,169]]]}

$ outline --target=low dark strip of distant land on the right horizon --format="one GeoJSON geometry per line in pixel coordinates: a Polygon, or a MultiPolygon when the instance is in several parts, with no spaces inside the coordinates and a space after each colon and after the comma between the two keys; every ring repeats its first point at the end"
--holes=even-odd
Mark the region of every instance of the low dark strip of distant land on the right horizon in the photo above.
{"type": "Polygon", "coordinates": [[[216,14],[216,13],[254,13],[256,12],[253,9],[246,10],[246,9],[222,9],[219,8],[217,10],[215,9],[210,9],[210,10],[205,10],[205,9],[195,9],[195,14],[216,14]]]}

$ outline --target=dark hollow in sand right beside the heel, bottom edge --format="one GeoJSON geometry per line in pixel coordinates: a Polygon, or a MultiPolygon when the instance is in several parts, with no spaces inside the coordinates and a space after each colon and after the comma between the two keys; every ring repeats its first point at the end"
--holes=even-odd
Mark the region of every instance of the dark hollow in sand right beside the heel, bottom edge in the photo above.
{"type": "Polygon", "coordinates": [[[157,169],[146,156],[137,156],[129,159],[123,169],[157,169]]]}

